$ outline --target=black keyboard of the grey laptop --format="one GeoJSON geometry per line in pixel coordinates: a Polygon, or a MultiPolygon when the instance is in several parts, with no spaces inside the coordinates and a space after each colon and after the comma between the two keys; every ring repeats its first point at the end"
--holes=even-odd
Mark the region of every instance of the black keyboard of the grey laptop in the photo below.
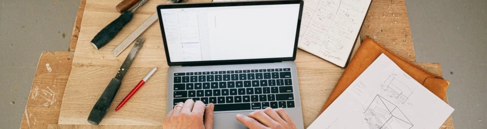
{"type": "Polygon", "coordinates": [[[215,104],[214,111],[294,108],[290,68],[174,73],[174,103],[215,104]]]}

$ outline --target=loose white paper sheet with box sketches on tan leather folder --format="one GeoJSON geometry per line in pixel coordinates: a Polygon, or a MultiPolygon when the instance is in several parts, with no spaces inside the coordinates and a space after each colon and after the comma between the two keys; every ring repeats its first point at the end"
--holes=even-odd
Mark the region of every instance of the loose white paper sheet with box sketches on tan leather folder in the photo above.
{"type": "Polygon", "coordinates": [[[308,129],[439,129],[452,112],[382,54],[308,129]]]}

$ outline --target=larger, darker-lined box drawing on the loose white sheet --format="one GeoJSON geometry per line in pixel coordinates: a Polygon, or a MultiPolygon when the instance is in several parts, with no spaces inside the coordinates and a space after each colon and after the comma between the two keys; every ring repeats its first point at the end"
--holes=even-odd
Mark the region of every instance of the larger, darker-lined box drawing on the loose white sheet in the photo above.
{"type": "Polygon", "coordinates": [[[413,126],[396,105],[378,94],[364,111],[364,115],[369,129],[411,129],[413,126]]]}

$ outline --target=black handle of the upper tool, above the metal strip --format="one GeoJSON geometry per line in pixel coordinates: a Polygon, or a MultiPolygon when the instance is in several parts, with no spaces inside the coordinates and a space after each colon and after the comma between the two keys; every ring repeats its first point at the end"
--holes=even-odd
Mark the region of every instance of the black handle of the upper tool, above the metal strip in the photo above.
{"type": "Polygon", "coordinates": [[[110,40],[115,37],[122,28],[130,22],[133,18],[133,13],[131,11],[124,11],[120,17],[116,18],[110,24],[101,29],[96,36],[93,37],[91,43],[93,47],[98,50],[105,46],[110,40]]]}

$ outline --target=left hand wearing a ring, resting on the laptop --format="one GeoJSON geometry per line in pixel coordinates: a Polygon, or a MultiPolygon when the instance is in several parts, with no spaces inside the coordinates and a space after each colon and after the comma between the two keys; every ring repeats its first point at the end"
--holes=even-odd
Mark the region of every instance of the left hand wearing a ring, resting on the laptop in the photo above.
{"type": "Polygon", "coordinates": [[[192,99],[177,105],[181,106],[174,107],[166,115],[163,129],[213,129],[215,105],[210,103],[205,107],[203,102],[192,99]]]}

